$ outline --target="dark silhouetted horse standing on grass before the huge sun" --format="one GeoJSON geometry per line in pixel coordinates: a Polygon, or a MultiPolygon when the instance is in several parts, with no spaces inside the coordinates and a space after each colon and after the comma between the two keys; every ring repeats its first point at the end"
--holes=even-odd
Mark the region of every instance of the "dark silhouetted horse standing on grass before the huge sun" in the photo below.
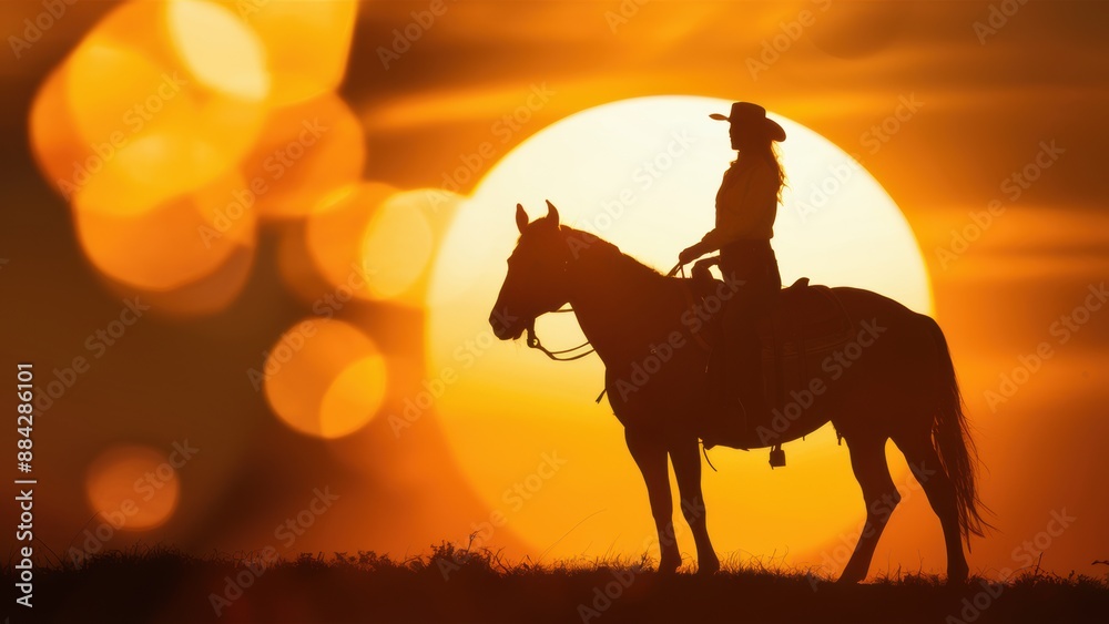
{"type": "MultiPolygon", "coordinates": [[[[558,209],[533,223],[517,205],[520,238],[508,259],[490,324],[502,339],[533,329],[540,315],[570,304],[586,337],[606,367],[609,402],[624,426],[628,450],[647,482],[661,546],[660,572],[681,564],[673,539],[673,500],[667,458],[673,464],[681,509],[696,543],[698,570],[720,569],[705,524],[699,440],[726,410],[706,379],[706,349],[688,323],[688,279],[659,274],[591,234],[560,226],[558,209]],[[683,319],[685,320],[683,323],[683,319]],[[678,340],[675,337],[681,337],[678,340]],[[659,357],[665,352],[663,362],[659,357]],[[655,357],[659,366],[644,362],[655,357]]],[[[833,288],[851,318],[872,319],[883,328],[806,412],[812,420],[790,428],[767,443],[751,438],[721,442],[735,448],[770,447],[800,438],[831,421],[847,441],[851,467],[862,488],[866,521],[840,582],[863,580],[874,549],[901,499],[886,466],[885,442],[905,454],[928,502],[939,516],[947,550],[948,582],[968,573],[963,542],[989,526],[976,490],[977,453],[947,341],[935,320],[903,305],[855,288],[833,288]]],[[[735,420],[735,419],[732,419],[735,420]]],[[[714,429],[715,427],[715,429],[714,429]]],[[[726,438],[726,436],[725,436],[726,438]]]]}

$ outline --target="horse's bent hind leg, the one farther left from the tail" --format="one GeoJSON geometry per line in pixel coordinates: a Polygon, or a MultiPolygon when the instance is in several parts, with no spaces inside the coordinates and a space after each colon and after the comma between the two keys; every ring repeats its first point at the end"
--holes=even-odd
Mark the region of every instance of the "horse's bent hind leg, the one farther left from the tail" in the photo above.
{"type": "Polygon", "coordinates": [[[841,583],[857,583],[866,577],[871,567],[874,549],[878,538],[886,528],[889,514],[901,500],[889,468],[886,466],[884,437],[856,436],[848,437],[847,448],[851,450],[851,469],[863,489],[863,501],[866,502],[866,523],[855,544],[855,552],[840,576],[841,583]]]}

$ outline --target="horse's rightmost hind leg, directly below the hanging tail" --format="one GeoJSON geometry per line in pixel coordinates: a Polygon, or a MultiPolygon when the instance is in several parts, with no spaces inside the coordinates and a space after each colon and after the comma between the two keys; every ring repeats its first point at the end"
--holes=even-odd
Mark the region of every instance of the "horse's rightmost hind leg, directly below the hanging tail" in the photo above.
{"type": "Polygon", "coordinates": [[[959,512],[955,499],[955,485],[939,463],[939,456],[932,446],[932,436],[925,430],[918,434],[898,434],[894,443],[905,453],[905,461],[913,470],[913,475],[924,488],[932,510],[939,516],[944,528],[944,543],[947,546],[947,581],[960,583],[966,581],[969,572],[966,556],[963,554],[962,534],[959,533],[959,512]]]}

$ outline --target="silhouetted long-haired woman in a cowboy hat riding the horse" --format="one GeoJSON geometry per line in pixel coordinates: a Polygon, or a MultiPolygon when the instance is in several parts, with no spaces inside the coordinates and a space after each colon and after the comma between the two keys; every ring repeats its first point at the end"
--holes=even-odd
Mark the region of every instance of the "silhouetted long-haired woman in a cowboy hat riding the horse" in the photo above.
{"type": "Polygon", "coordinates": [[[765,401],[757,375],[759,348],[754,336],[754,315],[769,297],[782,288],[782,276],[770,239],[781,198],[784,176],[774,142],[785,141],[785,130],[766,117],[766,110],[750,102],[735,102],[728,116],[713,113],[714,120],[730,123],[729,136],[739,156],[724,172],[716,192],[716,226],[701,241],[683,250],[678,259],[689,264],[720,250],[720,270],[733,285],[735,296],[724,307],[724,346],[739,358],[714,358],[716,375],[740,381],[740,399],[745,411],[763,411],[765,401]],[[731,370],[726,362],[742,362],[745,370],[731,370]],[[723,365],[723,366],[721,366],[723,365]]]}

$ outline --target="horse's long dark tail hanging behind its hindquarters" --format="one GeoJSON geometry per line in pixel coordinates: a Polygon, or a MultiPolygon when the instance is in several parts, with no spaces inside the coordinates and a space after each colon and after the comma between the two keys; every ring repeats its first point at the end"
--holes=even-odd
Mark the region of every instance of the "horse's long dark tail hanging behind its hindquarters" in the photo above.
{"type": "Polygon", "coordinates": [[[986,512],[989,510],[978,498],[978,450],[970,437],[970,428],[967,424],[966,413],[964,413],[965,403],[963,402],[963,393],[959,391],[958,379],[955,377],[955,362],[952,361],[952,352],[947,348],[947,339],[944,337],[943,329],[932,318],[928,320],[932,325],[933,338],[939,349],[942,367],[939,409],[932,429],[932,441],[947,477],[955,487],[959,532],[969,550],[970,535],[980,538],[984,535],[985,529],[993,529],[993,526],[983,520],[979,512],[979,510],[986,512]]]}

